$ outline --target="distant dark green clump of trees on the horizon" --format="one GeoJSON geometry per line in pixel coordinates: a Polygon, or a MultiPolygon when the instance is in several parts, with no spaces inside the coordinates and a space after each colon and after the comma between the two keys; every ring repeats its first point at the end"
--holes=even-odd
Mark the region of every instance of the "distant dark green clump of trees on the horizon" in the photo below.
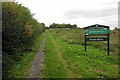
{"type": "Polygon", "coordinates": [[[77,28],[77,25],[71,25],[71,24],[57,24],[57,23],[53,23],[49,26],[49,28],[77,28]]]}

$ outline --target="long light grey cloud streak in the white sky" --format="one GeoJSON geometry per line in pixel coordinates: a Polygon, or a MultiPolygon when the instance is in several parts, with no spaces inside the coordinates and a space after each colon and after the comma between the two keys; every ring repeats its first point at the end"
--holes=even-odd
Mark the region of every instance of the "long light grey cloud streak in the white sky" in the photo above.
{"type": "Polygon", "coordinates": [[[110,15],[117,15],[117,8],[102,9],[102,10],[71,10],[65,13],[69,19],[75,18],[99,18],[110,15]]]}

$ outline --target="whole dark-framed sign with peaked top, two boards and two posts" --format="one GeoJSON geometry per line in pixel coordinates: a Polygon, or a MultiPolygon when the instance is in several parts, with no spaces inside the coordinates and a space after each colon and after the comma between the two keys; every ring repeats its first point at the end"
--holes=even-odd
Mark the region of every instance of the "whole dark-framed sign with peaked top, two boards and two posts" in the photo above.
{"type": "Polygon", "coordinates": [[[110,52],[110,42],[109,42],[109,26],[105,26],[105,25],[92,25],[92,26],[88,26],[84,28],[84,32],[85,32],[85,38],[84,38],[84,42],[85,42],[85,51],[87,51],[87,41],[107,41],[107,47],[108,47],[108,55],[110,52]],[[92,36],[92,37],[90,37],[92,36]],[[100,37],[102,36],[102,37],[100,37]],[[103,37],[104,36],[104,37],[103,37]]]}

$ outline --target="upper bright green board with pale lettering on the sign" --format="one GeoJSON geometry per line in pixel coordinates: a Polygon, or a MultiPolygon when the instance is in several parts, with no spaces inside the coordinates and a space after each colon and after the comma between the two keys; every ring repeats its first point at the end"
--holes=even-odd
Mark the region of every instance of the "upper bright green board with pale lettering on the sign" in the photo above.
{"type": "Polygon", "coordinates": [[[107,34],[109,33],[108,29],[97,29],[97,30],[85,30],[85,34],[107,34]]]}

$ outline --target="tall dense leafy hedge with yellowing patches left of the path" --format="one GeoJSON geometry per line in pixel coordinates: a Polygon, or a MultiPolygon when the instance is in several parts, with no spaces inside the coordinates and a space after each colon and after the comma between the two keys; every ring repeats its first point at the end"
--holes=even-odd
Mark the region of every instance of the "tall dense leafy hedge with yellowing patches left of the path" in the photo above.
{"type": "Polygon", "coordinates": [[[37,22],[28,8],[15,2],[2,3],[4,77],[13,64],[21,61],[26,52],[34,51],[34,41],[44,31],[45,24],[37,22]]]}

